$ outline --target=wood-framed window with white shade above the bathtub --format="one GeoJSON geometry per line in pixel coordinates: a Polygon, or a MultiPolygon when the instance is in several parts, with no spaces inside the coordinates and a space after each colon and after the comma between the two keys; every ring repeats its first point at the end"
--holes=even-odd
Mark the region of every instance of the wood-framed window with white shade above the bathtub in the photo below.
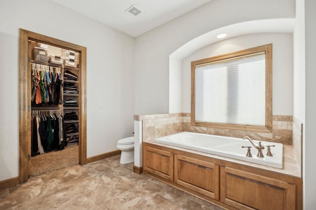
{"type": "Polygon", "coordinates": [[[272,131],[272,44],[191,63],[193,126],[272,131]]]}

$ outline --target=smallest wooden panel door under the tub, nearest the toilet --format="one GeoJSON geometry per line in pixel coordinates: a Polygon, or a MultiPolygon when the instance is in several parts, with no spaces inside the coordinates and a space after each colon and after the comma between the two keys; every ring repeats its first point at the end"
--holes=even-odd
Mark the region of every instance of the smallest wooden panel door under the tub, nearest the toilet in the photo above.
{"type": "Polygon", "coordinates": [[[173,153],[149,146],[143,153],[144,171],[173,181],[173,153]]]}

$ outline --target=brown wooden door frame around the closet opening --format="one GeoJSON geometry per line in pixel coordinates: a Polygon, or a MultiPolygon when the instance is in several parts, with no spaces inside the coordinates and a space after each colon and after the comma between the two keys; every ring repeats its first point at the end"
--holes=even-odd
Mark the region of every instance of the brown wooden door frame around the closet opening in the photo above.
{"type": "Polygon", "coordinates": [[[19,181],[28,180],[28,161],[31,159],[31,45],[29,40],[79,52],[79,164],[87,163],[86,156],[86,47],[20,29],[19,52],[19,181]]]}

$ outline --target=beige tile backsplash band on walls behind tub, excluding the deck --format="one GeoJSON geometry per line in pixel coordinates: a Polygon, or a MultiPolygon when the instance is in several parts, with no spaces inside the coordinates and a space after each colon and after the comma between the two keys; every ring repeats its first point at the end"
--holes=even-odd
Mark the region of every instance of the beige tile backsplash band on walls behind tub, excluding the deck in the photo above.
{"type": "Polygon", "coordinates": [[[274,115],[273,133],[191,126],[190,113],[134,115],[134,120],[143,121],[143,141],[188,131],[235,138],[249,136],[254,140],[292,145],[292,116],[274,115]]]}

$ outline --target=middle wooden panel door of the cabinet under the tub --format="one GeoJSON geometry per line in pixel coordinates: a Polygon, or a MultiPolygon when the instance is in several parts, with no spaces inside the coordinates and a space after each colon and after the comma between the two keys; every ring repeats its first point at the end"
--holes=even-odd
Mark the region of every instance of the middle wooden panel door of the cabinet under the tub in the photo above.
{"type": "Polygon", "coordinates": [[[219,200],[219,165],[175,155],[174,170],[177,184],[219,200]]]}

